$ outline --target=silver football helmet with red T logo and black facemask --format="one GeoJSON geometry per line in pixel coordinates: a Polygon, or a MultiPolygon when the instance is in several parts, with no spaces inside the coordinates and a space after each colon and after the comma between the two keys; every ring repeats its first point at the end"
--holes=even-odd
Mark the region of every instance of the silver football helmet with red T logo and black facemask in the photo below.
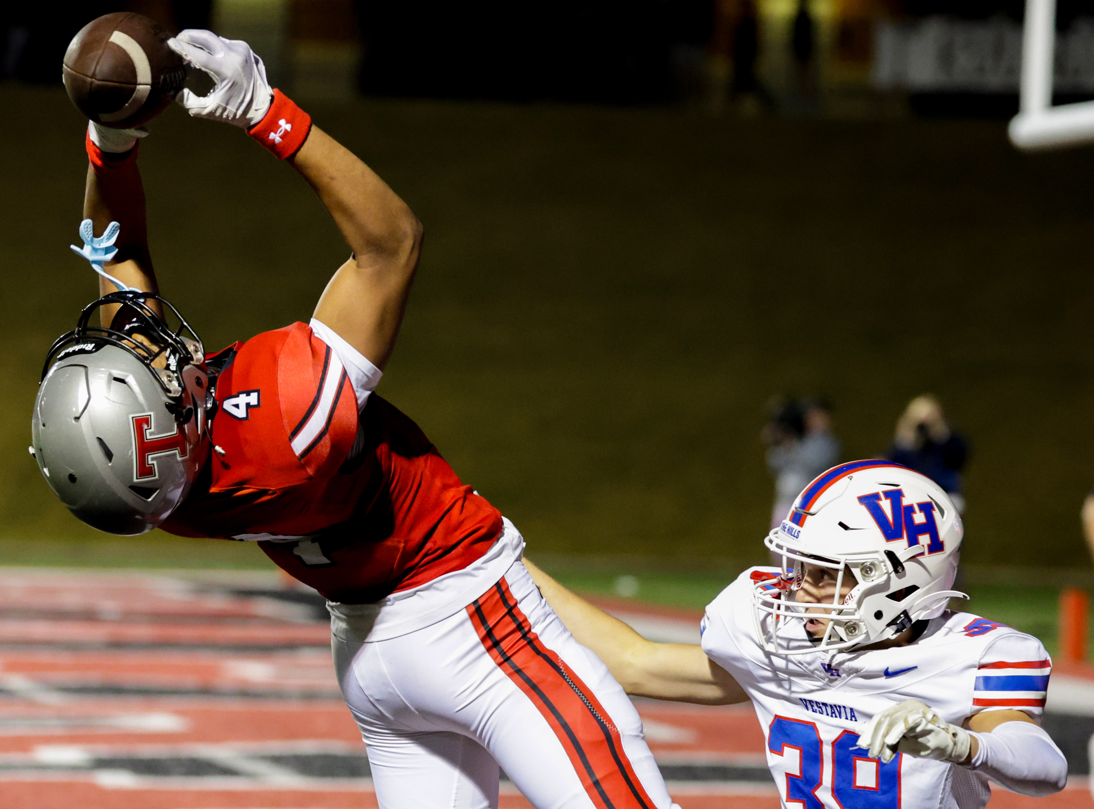
{"type": "Polygon", "coordinates": [[[201,341],[174,306],[151,293],[112,293],[49,349],[31,454],[81,520],[108,534],[143,534],[183,501],[208,457],[209,387],[201,341]],[[110,305],[120,308],[109,327],[90,325],[110,305]]]}

